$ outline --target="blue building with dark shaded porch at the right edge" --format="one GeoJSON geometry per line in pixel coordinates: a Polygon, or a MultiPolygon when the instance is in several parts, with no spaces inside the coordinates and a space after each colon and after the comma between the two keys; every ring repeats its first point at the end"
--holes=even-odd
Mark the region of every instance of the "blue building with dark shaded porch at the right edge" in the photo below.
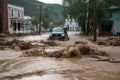
{"type": "Polygon", "coordinates": [[[120,35],[120,8],[111,6],[111,17],[108,20],[101,21],[99,26],[99,35],[120,35]]]}

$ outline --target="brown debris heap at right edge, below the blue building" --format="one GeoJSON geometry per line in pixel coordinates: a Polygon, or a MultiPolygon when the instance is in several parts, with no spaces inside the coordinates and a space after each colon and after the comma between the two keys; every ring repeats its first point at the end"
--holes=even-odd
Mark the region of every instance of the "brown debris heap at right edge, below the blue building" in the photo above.
{"type": "Polygon", "coordinates": [[[105,46],[120,46],[120,38],[108,38],[106,40],[101,40],[97,42],[98,45],[105,45],[105,46]]]}

